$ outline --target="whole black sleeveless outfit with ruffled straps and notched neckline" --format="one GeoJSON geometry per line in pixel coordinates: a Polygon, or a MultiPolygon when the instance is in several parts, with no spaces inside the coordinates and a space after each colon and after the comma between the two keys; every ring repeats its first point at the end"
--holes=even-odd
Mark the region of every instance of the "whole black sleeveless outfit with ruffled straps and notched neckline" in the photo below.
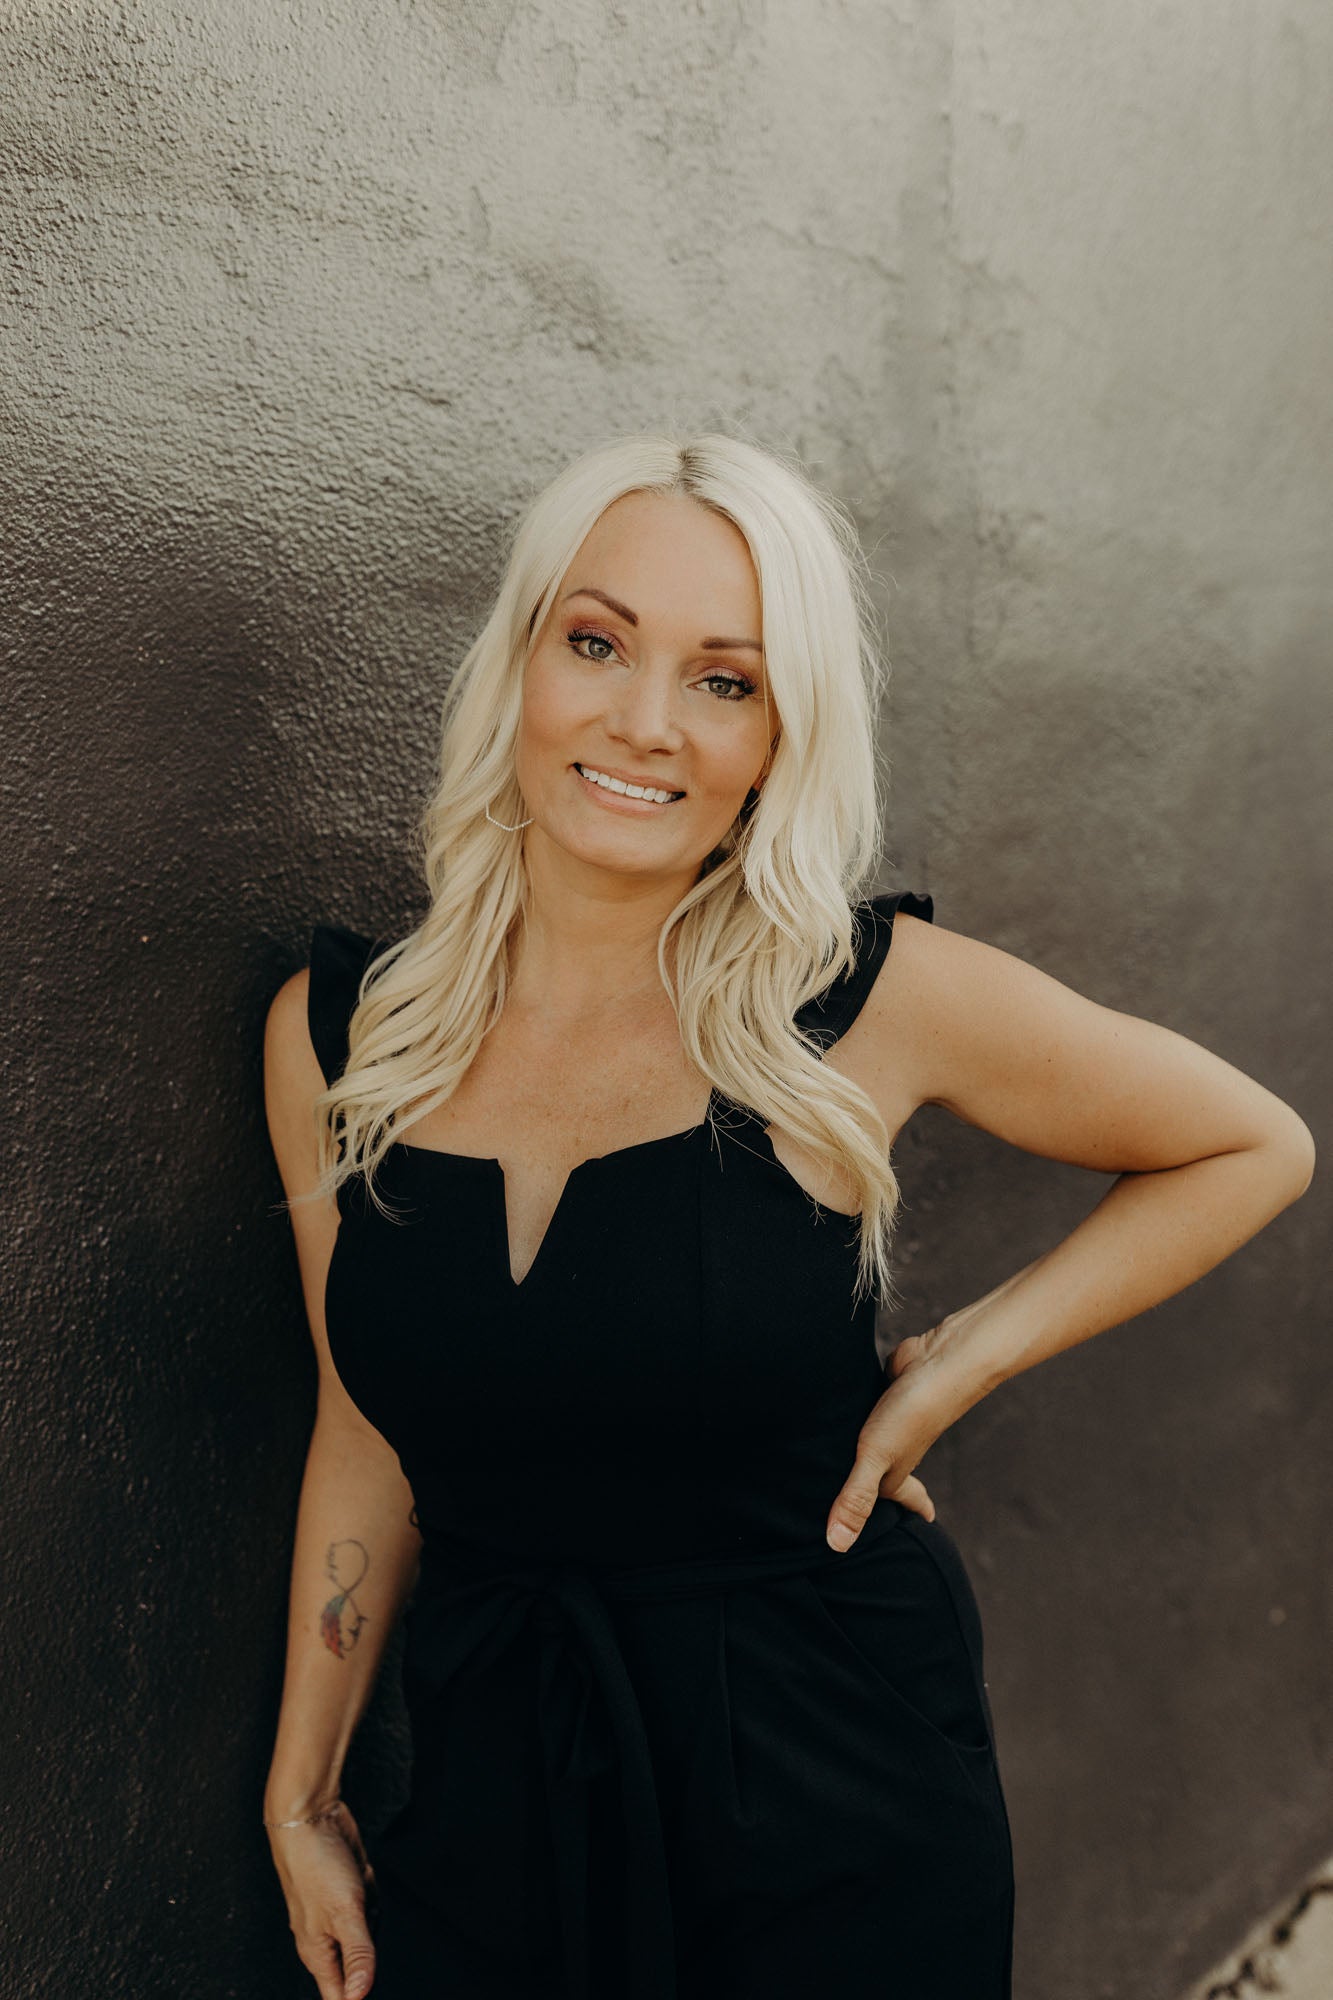
{"type": "MultiPolygon", "coordinates": [[[[801,1016],[855,1020],[905,908],[801,1016]]],[[[314,930],[332,1080],[372,940],[314,930]]],[[[424,1536],[372,2000],[1009,2000],[1013,1854],[951,1536],[825,1522],[887,1386],[857,1220],[719,1092],[584,1160],[514,1284],[496,1160],[338,1190],[334,1366],[424,1536]]]]}

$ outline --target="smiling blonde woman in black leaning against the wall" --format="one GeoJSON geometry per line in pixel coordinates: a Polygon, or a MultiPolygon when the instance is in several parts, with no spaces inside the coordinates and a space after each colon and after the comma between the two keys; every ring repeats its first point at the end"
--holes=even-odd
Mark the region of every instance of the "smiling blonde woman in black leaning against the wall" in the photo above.
{"type": "Polygon", "coordinates": [[[266,1100],[318,1354],[264,1798],[322,2000],[1003,2000],[977,1604],[917,1464],[1313,1172],[1193,1042],[861,898],[855,536],[727,436],[528,510],[444,704],[430,904],[318,926],[266,1100]],[[891,950],[893,946],[893,950],[891,950]],[[885,1380],[893,1140],[1119,1178],[885,1380]],[[410,1598],[408,1804],[338,1794],[410,1598]]]}

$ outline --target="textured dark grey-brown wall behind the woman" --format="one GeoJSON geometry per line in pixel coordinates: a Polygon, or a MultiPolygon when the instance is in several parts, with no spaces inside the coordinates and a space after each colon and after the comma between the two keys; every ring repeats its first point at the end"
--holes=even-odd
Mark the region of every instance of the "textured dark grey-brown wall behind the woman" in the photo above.
{"type": "MultiPolygon", "coordinates": [[[[1323,0],[10,0],[4,1686],[26,1994],[298,1974],[260,1786],[312,1354],[260,1096],[406,922],[526,492],[743,420],[893,630],[885,880],[1329,1144],[1323,0]]],[[[1101,1176],[905,1134],[925,1328],[1101,1176]]],[[[925,1472],[1023,2000],[1171,2000],[1333,1836],[1327,1168],[925,1472]]],[[[348,1792],[402,1784],[392,1664],[348,1792]]]]}

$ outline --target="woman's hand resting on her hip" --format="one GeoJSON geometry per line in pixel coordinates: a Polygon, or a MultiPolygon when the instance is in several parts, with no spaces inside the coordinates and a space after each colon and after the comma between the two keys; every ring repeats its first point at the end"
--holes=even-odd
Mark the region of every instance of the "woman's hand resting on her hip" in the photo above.
{"type": "Polygon", "coordinates": [[[935,1502],[913,1468],[969,1408],[951,1390],[941,1366],[945,1326],[909,1334],[889,1356],[893,1380],[861,1426],[857,1462],[829,1512],[825,1538],[841,1554],[853,1546],[881,1498],[899,1500],[913,1514],[935,1520],[935,1502]]]}

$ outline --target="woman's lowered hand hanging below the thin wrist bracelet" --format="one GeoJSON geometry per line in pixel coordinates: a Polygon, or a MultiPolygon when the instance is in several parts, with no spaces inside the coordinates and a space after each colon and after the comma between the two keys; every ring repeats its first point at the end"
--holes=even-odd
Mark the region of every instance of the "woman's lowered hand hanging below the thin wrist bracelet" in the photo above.
{"type": "Polygon", "coordinates": [[[374,1944],[366,1922],[374,1868],[350,1806],[340,1800],[328,1820],[270,1826],[268,1846],[286,1896],[296,1956],[314,1976],[320,2000],[362,2000],[374,1982],[374,1944]]]}

